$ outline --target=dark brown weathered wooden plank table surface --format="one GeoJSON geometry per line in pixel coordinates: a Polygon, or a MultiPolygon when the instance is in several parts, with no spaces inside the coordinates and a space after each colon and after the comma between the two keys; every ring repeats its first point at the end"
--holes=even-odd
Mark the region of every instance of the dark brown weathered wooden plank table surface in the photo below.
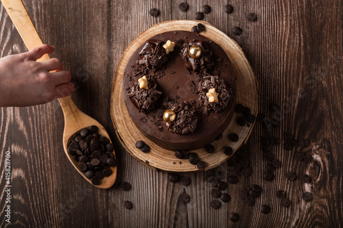
{"type": "MultiPolygon", "coordinates": [[[[100,190],[73,168],[62,148],[64,119],[58,101],[33,107],[0,109],[0,226],[5,222],[5,151],[12,153],[11,222],[15,227],[342,227],[343,105],[342,21],[340,0],[308,1],[195,1],[181,12],[181,1],[28,1],[23,3],[43,42],[55,45],[51,57],[71,71],[78,90],[71,96],[86,114],[97,119],[115,142],[119,160],[117,182],[132,183],[132,190],[118,186],[100,190]],[[206,173],[187,173],[187,187],[168,181],[167,173],[141,165],[116,138],[110,118],[110,91],[115,68],[124,49],[148,27],[161,21],[193,19],[202,5],[211,5],[207,21],[238,42],[259,82],[259,112],[271,116],[270,103],[281,106],[281,125],[271,131],[255,125],[246,144],[252,166],[250,177],[239,176],[229,184],[229,203],[210,207],[209,173],[232,173],[228,162],[206,173]],[[224,5],[234,6],[233,14],[224,5]],[[158,8],[160,16],[150,16],[158,8]],[[255,23],[247,15],[255,12],[255,23]],[[233,27],[243,29],[235,36],[233,27]],[[307,151],[314,162],[298,162],[293,151],[283,149],[285,132],[310,140],[307,151]],[[282,162],[274,181],[262,176],[261,136],[280,136],[273,148],[282,162]],[[288,181],[285,173],[307,173],[311,183],[288,181]],[[257,183],[262,194],[253,206],[238,198],[241,189],[257,183]],[[185,188],[191,201],[179,196],[185,188]],[[276,190],[287,191],[291,205],[281,207],[276,190]],[[311,202],[303,192],[313,194],[311,202]],[[123,201],[132,201],[132,210],[123,201]],[[272,207],[261,213],[261,205],[272,207]],[[231,212],[240,216],[229,220],[231,212]]],[[[1,57],[26,51],[14,25],[0,6],[1,57]]],[[[1,82],[0,82],[1,83],[1,82]]]]}

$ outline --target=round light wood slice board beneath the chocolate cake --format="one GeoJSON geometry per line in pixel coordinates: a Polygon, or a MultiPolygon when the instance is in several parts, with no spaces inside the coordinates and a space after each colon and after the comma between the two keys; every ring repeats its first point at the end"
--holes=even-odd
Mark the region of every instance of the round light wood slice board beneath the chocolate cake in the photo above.
{"type": "MultiPolygon", "coordinates": [[[[126,105],[123,100],[123,73],[126,65],[130,60],[134,51],[136,51],[146,40],[161,34],[165,31],[184,30],[191,31],[191,27],[203,23],[206,26],[206,31],[201,35],[210,38],[216,42],[230,58],[235,73],[237,75],[237,103],[241,103],[247,107],[250,107],[252,114],[257,114],[258,106],[258,86],[257,80],[252,72],[252,68],[246,59],[243,51],[237,45],[237,43],[230,39],[219,29],[216,29],[209,23],[204,21],[165,21],[163,23],[156,24],[149,29],[143,31],[137,38],[135,38],[131,44],[126,48],[121,55],[117,70],[115,72],[115,80],[113,81],[111,102],[110,102],[110,115],[115,126],[116,134],[125,149],[139,162],[148,166],[154,170],[165,170],[168,172],[196,172],[199,171],[196,166],[189,163],[188,160],[179,160],[175,157],[174,151],[159,147],[157,144],[146,138],[136,125],[131,120],[126,105]],[[143,140],[151,147],[150,153],[143,153],[140,149],[135,147],[135,143],[138,140],[143,140]],[[180,164],[180,162],[182,162],[180,164]]],[[[238,114],[234,114],[232,121],[223,133],[223,137],[220,140],[213,142],[215,147],[215,153],[206,153],[202,149],[196,149],[192,152],[198,153],[200,160],[207,162],[205,170],[215,168],[225,162],[229,157],[224,154],[224,147],[230,146],[233,148],[234,153],[241,147],[241,144],[246,143],[250,133],[252,131],[253,124],[250,127],[241,127],[237,125],[235,119],[238,114]],[[230,142],[228,140],[228,134],[236,133],[239,136],[237,142],[230,142]]]]}

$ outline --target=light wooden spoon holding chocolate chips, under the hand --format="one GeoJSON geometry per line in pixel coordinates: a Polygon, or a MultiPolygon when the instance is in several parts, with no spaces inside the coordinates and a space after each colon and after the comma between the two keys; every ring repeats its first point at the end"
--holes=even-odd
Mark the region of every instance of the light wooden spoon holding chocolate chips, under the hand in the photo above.
{"type": "MultiPolygon", "coordinates": [[[[40,37],[36,29],[34,28],[34,25],[29,18],[29,14],[27,14],[27,11],[25,10],[25,7],[21,0],[1,0],[1,2],[10,15],[10,18],[16,26],[16,29],[19,31],[19,34],[25,42],[27,49],[31,50],[35,47],[43,45],[43,42],[42,40],[40,40],[40,37]]],[[[43,62],[45,60],[49,60],[49,55],[43,55],[43,57],[37,61],[43,62]]],[[[76,107],[75,103],[73,103],[71,97],[63,97],[58,99],[58,101],[60,101],[60,105],[64,114],[64,153],[67,155],[71,164],[73,164],[76,170],[78,170],[78,172],[82,175],[82,177],[84,177],[84,179],[86,179],[89,183],[92,183],[91,179],[88,179],[86,175],[79,170],[79,162],[73,160],[73,157],[67,152],[67,143],[69,141],[69,138],[71,138],[71,136],[73,136],[76,131],[80,131],[80,129],[89,127],[91,125],[95,125],[99,128],[98,133],[100,135],[106,136],[109,140],[110,136],[108,136],[107,131],[101,124],[99,124],[99,122],[95,121],[95,119],[91,118],[91,116],[88,116],[81,112],[78,107],[76,107]]],[[[114,151],[113,155],[115,155],[114,151]]],[[[117,167],[110,168],[113,171],[113,174],[110,175],[110,177],[105,177],[104,179],[102,179],[101,183],[96,186],[97,188],[110,188],[111,186],[113,186],[113,183],[115,183],[115,179],[117,177],[117,167]]]]}

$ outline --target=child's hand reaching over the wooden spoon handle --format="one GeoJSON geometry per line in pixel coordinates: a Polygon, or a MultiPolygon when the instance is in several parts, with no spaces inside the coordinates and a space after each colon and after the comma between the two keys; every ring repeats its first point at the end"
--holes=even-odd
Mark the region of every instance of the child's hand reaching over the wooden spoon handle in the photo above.
{"type": "Polygon", "coordinates": [[[60,60],[36,62],[54,49],[54,46],[42,45],[0,59],[0,107],[38,105],[74,92],[71,74],[62,70],[60,60]]]}

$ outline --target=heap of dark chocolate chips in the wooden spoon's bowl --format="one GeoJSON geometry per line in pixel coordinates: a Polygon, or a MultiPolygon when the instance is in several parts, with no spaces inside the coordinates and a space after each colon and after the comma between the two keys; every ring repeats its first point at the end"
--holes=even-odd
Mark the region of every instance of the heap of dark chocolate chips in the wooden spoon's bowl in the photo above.
{"type": "Polygon", "coordinates": [[[67,151],[79,162],[78,168],[94,185],[112,175],[110,167],[117,166],[113,144],[105,136],[97,134],[98,127],[85,127],[76,132],[67,144],[67,151]]]}

